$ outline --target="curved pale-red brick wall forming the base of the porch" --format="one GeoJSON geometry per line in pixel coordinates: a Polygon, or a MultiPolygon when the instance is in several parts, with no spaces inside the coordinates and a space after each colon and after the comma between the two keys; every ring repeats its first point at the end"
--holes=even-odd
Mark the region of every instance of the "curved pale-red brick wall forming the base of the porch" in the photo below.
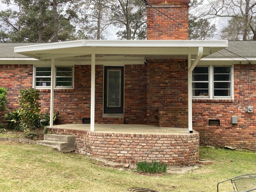
{"type": "Polygon", "coordinates": [[[55,134],[74,135],[75,151],[114,161],[136,163],[160,160],[170,166],[194,165],[199,155],[199,134],[111,134],[49,128],[55,134]]]}

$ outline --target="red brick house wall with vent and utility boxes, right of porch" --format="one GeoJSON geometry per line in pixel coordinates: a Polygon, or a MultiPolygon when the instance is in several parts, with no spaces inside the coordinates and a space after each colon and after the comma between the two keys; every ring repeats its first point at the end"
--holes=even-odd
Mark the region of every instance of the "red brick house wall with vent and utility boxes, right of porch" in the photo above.
{"type": "MultiPolygon", "coordinates": [[[[254,108],[254,113],[246,112],[249,105],[249,65],[241,65],[241,70],[239,66],[234,65],[234,100],[193,100],[193,128],[200,133],[201,145],[232,145],[256,150],[256,110],[254,108]],[[238,117],[237,125],[231,124],[231,116],[238,117]],[[209,119],[219,119],[220,126],[209,126],[209,119]]],[[[255,66],[251,66],[250,73],[251,105],[256,107],[255,66]]]]}

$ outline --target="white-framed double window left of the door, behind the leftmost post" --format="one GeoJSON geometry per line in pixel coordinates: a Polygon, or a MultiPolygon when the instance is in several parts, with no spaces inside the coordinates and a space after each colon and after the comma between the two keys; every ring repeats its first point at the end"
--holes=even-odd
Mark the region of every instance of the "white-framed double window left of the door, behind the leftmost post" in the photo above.
{"type": "MultiPolygon", "coordinates": [[[[55,88],[73,88],[73,67],[56,66],[55,68],[55,88]]],[[[51,67],[35,66],[34,72],[35,88],[51,87],[51,67]]]]}

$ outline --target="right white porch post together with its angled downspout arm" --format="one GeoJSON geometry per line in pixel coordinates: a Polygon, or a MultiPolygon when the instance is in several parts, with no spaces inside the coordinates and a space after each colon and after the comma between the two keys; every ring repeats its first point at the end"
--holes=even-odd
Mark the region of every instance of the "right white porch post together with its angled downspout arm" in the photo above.
{"type": "Polygon", "coordinates": [[[189,133],[193,133],[193,126],[192,126],[192,71],[195,68],[196,64],[199,62],[203,55],[203,48],[198,48],[198,54],[195,57],[193,64],[191,65],[191,52],[188,54],[188,127],[189,133]]]}

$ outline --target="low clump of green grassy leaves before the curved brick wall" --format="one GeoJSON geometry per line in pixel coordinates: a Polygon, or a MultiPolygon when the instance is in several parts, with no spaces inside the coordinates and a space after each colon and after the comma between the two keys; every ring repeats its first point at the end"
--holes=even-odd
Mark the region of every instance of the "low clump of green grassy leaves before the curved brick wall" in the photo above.
{"type": "Polygon", "coordinates": [[[139,173],[165,173],[167,171],[167,164],[153,161],[148,163],[145,161],[140,161],[136,163],[137,171],[139,173]]]}

